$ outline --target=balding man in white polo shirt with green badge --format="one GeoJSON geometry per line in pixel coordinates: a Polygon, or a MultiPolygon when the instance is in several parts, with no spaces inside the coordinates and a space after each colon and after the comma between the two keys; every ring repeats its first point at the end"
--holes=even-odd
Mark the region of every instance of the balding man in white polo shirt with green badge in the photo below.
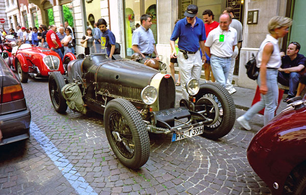
{"type": "Polygon", "coordinates": [[[221,14],[219,26],[212,30],[205,42],[205,51],[210,57],[211,68],[216,79],[225,88],[231,59],[237,45],[237,31],[230,26],[230,14],[221,14]]]}

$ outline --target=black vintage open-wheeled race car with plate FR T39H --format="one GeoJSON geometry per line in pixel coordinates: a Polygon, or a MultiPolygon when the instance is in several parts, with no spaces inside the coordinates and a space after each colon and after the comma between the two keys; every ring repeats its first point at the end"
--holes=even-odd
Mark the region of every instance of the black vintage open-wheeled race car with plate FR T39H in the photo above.
{"type": "MultiPolygon", "coordinates": [[[[148,132],[172,134],[171,141],[201,135],[218,139],[231,131],[236,117],[230,94],[217,83],[199,85],[191,79],[189,99],[175,107],[175,84],[160,69],[148,67],[145,59],[107,58],[91,48],[85,59],[69,62],[68,75],[52,72],[49,94],[58,113],[87,109],[104,115],[109,144],[119,161],[138,169],[149,157],[148,132]]],[[[150,60],[148,60],[150,61],[150,60]]]]}

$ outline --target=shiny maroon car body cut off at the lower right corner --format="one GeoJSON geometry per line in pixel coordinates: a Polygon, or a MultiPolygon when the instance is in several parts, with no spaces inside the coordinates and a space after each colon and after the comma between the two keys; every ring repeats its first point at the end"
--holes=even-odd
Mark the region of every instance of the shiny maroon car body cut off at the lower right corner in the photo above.
{"type": "Polygon", "coordinates": [[[306,101],[301,97],[252,139],[247,158],[272,194],[306,194],[306,101]]]}

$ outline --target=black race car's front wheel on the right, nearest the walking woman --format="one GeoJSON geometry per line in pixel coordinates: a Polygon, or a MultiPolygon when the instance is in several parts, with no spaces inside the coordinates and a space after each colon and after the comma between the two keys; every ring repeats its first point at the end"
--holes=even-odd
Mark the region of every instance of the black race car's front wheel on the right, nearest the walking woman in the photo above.
{"type": "Polygon", "coordinates": [[[206,110],[203,115],[215,121],[204,127],[201,136],[216,140],[231,131],[236,119],[236,108],[232,96],[222,86],[214,82],[202,84],[196,99],[196,105],[202,104],[199,107],[205,109],[195,111],[206,110]]]}

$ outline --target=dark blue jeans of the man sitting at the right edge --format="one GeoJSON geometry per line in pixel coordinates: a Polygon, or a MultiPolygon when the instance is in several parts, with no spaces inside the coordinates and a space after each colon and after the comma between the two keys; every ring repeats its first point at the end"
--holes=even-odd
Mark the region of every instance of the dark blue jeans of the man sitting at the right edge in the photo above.
{"type": "Polygon", "coordinates": [[[285,72],[278,72],[277,81],[283,86],[289,86],[288,95],[295,96],[295,91],[298,86],[298,81],[301,75],[297,72],[290,72],[289,74],[285,72]]]}

